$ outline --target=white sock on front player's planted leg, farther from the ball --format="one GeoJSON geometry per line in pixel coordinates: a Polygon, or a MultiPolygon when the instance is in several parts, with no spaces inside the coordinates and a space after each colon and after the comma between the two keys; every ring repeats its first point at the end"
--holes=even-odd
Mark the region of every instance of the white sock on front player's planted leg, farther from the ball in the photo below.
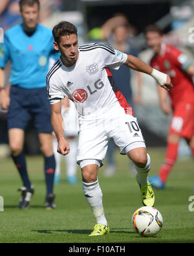
{"type": "Polygon", "coordinates": [[[108,226],[107,220],[103,213],[102,190],[100,189],[98,178],[92,183],[85,183],[82,181],[82,187],[85,198],[91,206],[92,213],[96,218],[96,224],[108,226]]]}

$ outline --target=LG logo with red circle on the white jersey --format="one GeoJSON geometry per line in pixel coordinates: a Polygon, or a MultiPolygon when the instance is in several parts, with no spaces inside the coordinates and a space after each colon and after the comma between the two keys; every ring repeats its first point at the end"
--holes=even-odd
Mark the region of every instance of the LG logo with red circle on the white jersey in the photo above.
{"type": "MultiPolygon", "coordinates": [[[[98,79],[94,83],[94,87],[87,86],[87,89],[88,89],[90,95],[92,95],[92,94],[96,93],[96,91],[102,89],[103,86],[104,86],[104,84],[103,84],[102,80],[98,79]]],[[[87,91],[85,91],[85,89],[76,89],[72,93],[72,98],[75,102],[83,103],[83,102],[85,102],[85,100],[87,100],[87,91]]]]}

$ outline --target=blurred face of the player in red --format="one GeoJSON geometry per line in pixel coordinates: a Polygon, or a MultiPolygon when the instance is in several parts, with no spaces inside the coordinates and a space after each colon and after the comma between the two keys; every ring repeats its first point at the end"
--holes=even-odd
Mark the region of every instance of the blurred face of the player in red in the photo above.
{"type": "Polygon", "coordinates": [[[153,49],[156,53],[160,53],[162,36],[158,32],[147,32],[146,33],[147,45],[153,49]]]}

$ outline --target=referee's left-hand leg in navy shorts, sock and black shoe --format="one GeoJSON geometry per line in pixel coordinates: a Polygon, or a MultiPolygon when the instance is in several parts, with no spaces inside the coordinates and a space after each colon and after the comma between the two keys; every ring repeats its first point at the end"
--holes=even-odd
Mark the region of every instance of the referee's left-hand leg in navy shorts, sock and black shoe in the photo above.
{"type": "Polygon", "coordinates": [[[8,137],[9,145],[12,151],[12,159],[16,165],[23,187],[21,198],[19,200],[19,208],[28,207],[30,199],[34,193],[34,187],[31,185],[28,173],[25,154],[23,152],[25,129],[30,120],[30,113],[26,108],[28,104],[28,90],[12,86],[10,89],[10,106],[8,110],[8,137]]]}

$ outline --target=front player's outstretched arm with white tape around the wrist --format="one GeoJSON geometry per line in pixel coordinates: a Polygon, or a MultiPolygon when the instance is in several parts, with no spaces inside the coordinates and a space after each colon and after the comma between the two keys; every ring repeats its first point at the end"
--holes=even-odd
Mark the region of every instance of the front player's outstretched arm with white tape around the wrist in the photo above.
{"type": "Polygon", "coordinates": [[[153,67],[147,65],[145,62],[131,54],[127,55],[125,65],[136,71],[153,76],[153,78],[156,79],[158,84],[160,84],[160,86],[166,90],[172,89],[173,87],[173,85],[171,84],[171,78],[169,78],[168,75],[160,71],[157,71],[156,69],[153,69],[153,67]]]}

